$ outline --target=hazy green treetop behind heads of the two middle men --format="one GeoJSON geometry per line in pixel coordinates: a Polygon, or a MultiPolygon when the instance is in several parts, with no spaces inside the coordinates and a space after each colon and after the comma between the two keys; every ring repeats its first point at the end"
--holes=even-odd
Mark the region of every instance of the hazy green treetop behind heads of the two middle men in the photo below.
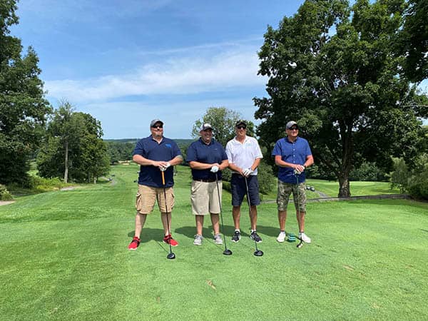
{"type": "MultiPolygon", "coordinates": [[[[239,120],[243,120],[243,118],[241,114],[236,111],[231,111],[225,107],[210,107],[202,116],[202,119],[195,121],[192,136],[198,138],[200,126],[203,123],[210,123],[210,125],[213,126],[215,139],[223,146],[226,146],[226,143],[235,137],[235,123],[239,120]]],[[[251,121],[246,121],[246,123],[248,125],[248,135],[253,136],[254,124],[251,121]]]]}

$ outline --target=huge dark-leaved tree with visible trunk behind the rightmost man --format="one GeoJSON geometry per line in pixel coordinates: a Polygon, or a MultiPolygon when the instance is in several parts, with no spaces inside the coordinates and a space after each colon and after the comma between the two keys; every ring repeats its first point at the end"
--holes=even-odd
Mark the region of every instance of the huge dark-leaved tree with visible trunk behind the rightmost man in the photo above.
{"type": "Polygon", "coordinates": [[[259,73],[270,97],[255,98],[261,141],[271,150],[285,123],[297,121],[340,197],[350,196],[349,174],[361,161],[387,166],[391,155],[417,152],[415,88],[399,77],[404,57],[393,46],[405,9],[404,0],[305,1],[265,34],[259,73]]]}

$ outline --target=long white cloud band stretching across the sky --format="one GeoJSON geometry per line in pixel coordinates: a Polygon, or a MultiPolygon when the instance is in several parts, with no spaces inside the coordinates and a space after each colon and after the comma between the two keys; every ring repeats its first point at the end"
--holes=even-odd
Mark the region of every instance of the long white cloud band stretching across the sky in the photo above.
{"type": "Polygon", "coordinates": [[[265,83],[263,77],[257,76],[258,63],[257,54],[248,51],[209,58],[170,58],[122,75],[46,81],[45,88],[51,98],[67,98],[76,103],[136,95],[226,91],[265,83]]]}

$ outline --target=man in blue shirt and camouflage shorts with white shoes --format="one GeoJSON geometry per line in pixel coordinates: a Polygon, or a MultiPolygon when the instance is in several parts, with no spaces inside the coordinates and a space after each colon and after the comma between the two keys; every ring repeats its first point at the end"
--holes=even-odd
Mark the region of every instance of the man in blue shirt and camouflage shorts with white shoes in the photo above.
{"type": "Polygon", "coordinates": [[[312,157],[309,143],[307,143],[305,138],[298,136],[299,126],[297,126],[295,121],[289,121],[285,126],[285,131],[287,136],[280,138],[272,151],[272,156],[275,156],[275,164],[280,167],[278,170],[277,192],[280,235],[278,235],[277,241],[282,243],[287,237],[285,233],[285,220],[287,219],[288,200],[292,193],[296,208],[297,223],[299,225],[299,238],[305,243],[310,243],[310,238],[305,234],[305,168],[314,163],[314,158],[312,157]]]}

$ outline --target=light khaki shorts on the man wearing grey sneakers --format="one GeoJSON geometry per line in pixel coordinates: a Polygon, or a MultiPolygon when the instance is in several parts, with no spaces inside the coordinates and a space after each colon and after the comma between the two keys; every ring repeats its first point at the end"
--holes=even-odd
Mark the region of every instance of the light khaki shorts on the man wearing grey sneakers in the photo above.
{"type": "MultiPolygon", "coordinates": [[[[218,190],[221,190],[223,183],[221,180],[218,181],[218,190]]],[[[208,215],[220,213],[220,203],[218,200],[217,184],[198,182],[197,180],[192,181],[192,189],[190,190],[190,201],[192,203],[192,212],[194,215],[208,215]]]]}

